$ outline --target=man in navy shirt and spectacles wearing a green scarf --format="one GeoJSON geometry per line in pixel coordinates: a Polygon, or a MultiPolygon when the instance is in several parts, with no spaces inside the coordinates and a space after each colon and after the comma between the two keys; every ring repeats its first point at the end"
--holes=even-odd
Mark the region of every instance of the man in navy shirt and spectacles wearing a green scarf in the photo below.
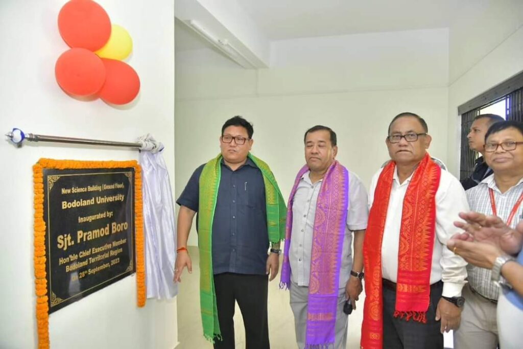
{"type": "Polygon", "coordinates": [[[240,116],[227,120],[221,153],[196,169],[176,201],[180,210],[174,280],[181,282],[185,267],[192,272],[186,246],[198,212],[203,335],[214,348],[235,346],[236,302],[246,346],[269,348],[268,280],[278,274],[286,207],[269,166],[249,153],[253,132],[252,124],[240,116]]]}

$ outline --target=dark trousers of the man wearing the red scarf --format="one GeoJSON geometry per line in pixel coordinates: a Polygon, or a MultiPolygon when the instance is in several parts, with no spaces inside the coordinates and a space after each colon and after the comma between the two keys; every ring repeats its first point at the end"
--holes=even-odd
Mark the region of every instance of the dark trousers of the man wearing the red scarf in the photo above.
{"type": "Polygon", "coordinates": [[[441,321],[435,320],[442,291],[443,283],[431,287],[427,323],[420,323],[412,319],[405,321],[394,318],[396,291],[383,286],[383,348],[442,349],[441,321]]]}

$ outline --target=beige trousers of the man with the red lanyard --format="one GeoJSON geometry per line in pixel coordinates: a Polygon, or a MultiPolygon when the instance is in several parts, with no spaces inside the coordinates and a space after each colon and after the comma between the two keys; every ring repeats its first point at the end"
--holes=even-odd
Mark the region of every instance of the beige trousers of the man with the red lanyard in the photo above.
{"type": "Polygon", "coordinates": [[[461,324],[454,331],[456,349],[495,349],[498,345],[496,305],[474,294],[469,285],[463,287],[465,305],[461,324]]]}

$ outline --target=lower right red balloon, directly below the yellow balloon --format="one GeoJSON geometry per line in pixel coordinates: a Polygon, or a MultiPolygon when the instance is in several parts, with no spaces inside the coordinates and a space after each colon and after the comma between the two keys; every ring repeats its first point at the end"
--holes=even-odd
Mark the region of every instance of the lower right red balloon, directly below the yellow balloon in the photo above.
{"type": "Polygon", "coordinates": [[[102,58],[106,70],[105,84],[99,96],[104,102],[110,104],[127,104],[138,95],[140,91],[140,78],[132,67],[122,61],[102,58]]]}

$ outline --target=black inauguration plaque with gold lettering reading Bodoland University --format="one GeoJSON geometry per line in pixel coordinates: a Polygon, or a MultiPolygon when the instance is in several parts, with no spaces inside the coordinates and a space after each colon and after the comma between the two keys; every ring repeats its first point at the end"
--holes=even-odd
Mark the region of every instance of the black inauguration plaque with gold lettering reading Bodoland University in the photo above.
{"type": "Polygon", "coordinates": [[[134,168],[43,170],[49,313],[135,272],[134,168]]]}

